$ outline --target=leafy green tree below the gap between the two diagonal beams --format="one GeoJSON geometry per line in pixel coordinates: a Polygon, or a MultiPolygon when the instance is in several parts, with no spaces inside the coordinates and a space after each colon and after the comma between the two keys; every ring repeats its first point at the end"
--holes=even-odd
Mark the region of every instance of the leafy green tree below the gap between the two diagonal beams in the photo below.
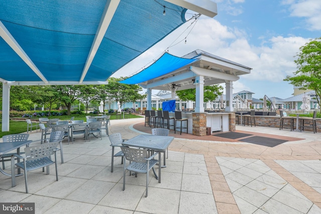
{"type": "Polygon", "coordinates": [[[80,88],[79,85],[57,85],[53,88],[58,92],[58,99],[67,107],[67,115],[70,115],[71,105],[80,98],[80,88]]]}

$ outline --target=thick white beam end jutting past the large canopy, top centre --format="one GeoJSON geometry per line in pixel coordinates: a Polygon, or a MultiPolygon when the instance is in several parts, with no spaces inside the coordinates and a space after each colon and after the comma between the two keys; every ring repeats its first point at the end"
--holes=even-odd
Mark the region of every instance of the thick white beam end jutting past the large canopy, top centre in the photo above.
{"type": "Polygon", "coordinates": [[[165,0],[165,1],[211,18],[217,15],[217,5],[211,0],[165,0]]]}

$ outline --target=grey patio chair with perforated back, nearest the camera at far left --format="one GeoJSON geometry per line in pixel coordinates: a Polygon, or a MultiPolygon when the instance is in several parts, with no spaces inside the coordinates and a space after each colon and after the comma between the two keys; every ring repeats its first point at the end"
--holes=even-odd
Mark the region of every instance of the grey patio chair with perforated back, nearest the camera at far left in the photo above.
{"type": "Polygon", "coordinates": [[[19,168],[24,169],[25,171],[25,184],[26,184],[26,193],[28,193],[28,184],[27,184],[27,172],[35,169],[43,168],[47,166],[47,174],[49,174],[49,165],[55,163],[56,166],[56,180],[58,181],[58,172],[57,172],[57,155],[56,151],[57,145],[59,142],[44,143],[35,146],[29,146],[25,148],[25,157],[14,154],[11,157],[11,179],[12,186],[16,186],[16,176],[15,176],[15,165],[19,168]],[[51,160],[51,155],[55,154],[55,161],[51,160]],[[14,163],[15,157],[22,158],[24,161],[19,163],[14,163]]]}

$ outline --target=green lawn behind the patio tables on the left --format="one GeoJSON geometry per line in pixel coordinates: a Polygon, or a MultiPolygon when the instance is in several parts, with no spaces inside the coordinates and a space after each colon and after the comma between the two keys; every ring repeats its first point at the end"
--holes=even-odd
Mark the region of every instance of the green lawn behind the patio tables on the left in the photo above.
{"type": "MultiPolygon", "coordinates": [[[[70,120],[71,117],[75,117],[74,120],[83,120],[86,121],[86,116],[90,115],[90,116],[97,116],[97,114],[83,114],[83,115],[71,115],[71,116],[67,116],[67,115],[63,115],[63,116],[51,116],[49,117],[49,119],[53,119],[53,118],[59,118],[60,120],[70,120]]],[[[135,115],[135,114],[129,114],[129,118],[138,118],[141,116],[135,115]]],[[[27,118],[25,118],[27,119],[27,118]]],[[[116,114],[113,113],[110,115],[110,119],[114,120],[116,119],[116,114]]],[[[2,123],[0,123],[0,130],[2,130],[2,123]]],[[[33,130],[36,130],[36,127],[33,127],[33,130]]],[[[10,131],[5,131],[2,132],[0,131],[0,137],[3,137],[4,135],[8,135],[8,134],[18,134],[18,133],[22,133],[22,132],[26,132],[27,131],[27,123],[26,121],[13,121],[10,120],[10,131]]],[[[39,130],[38,130],[39,131],[39,130]]]]}

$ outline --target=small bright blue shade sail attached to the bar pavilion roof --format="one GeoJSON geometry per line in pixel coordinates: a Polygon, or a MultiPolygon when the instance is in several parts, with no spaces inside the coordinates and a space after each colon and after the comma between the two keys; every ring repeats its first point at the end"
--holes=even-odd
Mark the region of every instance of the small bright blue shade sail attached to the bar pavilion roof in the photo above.
{"type": "Polygon", "coordinates": [[[138,74],[135,74],[128,79],[120,81],[120,83],[138,84],[147,80],[151,80],[156,77],[169,74],[181,67],[184,67],[188,64],[193,63],[196,60],[198,59],[185,59],[185,58],[176,57],[169,53],[165,53],[162,57],[156,60],[148,68],[142,70],[138,74]]]}

